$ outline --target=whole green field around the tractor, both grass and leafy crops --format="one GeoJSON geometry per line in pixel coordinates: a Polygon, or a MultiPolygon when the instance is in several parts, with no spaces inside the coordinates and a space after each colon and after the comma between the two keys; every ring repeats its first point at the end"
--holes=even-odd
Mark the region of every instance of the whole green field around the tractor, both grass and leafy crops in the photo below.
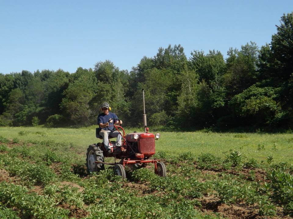
{"type": "Polygon", "coordinates": [[[0,127],[0,218],[292,218],[292,134],[160,133],[167,177],[122,180],[87,173],[94,126],[0,127]]]}

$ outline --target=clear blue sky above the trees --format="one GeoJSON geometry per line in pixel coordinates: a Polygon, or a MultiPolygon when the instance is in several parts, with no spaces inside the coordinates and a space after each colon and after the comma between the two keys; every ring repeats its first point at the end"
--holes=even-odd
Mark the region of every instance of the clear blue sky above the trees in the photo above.
{"type": "Polygon", "coordinates": [[[219,50],[270,43],[292,0],[0,0],[0,73],[73,73],[110,60],[130,71],[159,47],[219,50]]]}

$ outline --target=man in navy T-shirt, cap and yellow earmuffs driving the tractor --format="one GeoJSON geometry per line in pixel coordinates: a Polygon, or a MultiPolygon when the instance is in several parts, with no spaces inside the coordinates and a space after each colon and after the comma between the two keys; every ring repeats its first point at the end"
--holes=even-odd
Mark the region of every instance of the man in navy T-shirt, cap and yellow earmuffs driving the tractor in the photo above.
{"type": "Polygon", "coordinates": [[[117,137],[116,146],[121,146],[121,134],[114,128],[113,125],[115,123],[116,125],[120,126],[122,124],[122,121],[118,119],[118,116],[116,116],[115,113],[109,112],[109,110],[111,110],[109,103],[103,103],[101,109],[103,113],[99,114],[97,119],[98,125],[102,129],[99,132],[99,135],[103,137],[103,142],[105,145],[105,149],[107,150],[107,153],[111,154],[112,152],[109,144],[109,136],[117,137]]]}

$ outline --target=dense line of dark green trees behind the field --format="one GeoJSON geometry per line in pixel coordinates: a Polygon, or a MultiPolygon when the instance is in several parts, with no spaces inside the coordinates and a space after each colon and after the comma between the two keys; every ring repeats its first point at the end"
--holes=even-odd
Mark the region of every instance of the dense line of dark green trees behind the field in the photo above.
{"type": "Polygon", "coordinates": [[[181,45],[159,48],[130,72],[111,61],[94,69],[0,74],[0,125],[48,127],[96,124],[103,102],[128,126],[178,128],[293,127],[293,12],[271,43],[219,51],[181,45]]]}

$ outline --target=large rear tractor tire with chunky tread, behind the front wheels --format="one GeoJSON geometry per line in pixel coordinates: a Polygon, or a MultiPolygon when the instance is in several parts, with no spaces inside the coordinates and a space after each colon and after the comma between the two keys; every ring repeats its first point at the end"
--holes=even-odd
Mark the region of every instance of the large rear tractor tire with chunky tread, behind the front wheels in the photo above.
{"type": "Polygon", "coordinates": [[[86,153],[86,166],[88,172],[99,172],[104,170],[104,164],[97,164],[95,161],[104,162],[103,151],[96,144],[89,145],[88,151],[86,153]]]}

